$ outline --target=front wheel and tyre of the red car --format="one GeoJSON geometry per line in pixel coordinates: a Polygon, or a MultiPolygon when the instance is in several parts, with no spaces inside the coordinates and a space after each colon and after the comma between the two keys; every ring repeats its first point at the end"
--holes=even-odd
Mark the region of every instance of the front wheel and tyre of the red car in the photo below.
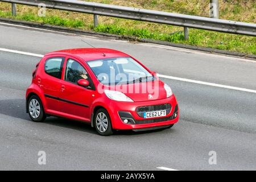
{"type": "Polygon", "coordinates": [[[94,126],[98,134],[109,136],[113,134],[112,123],[106,109],[99,109],[94,114],[94,126]]]}

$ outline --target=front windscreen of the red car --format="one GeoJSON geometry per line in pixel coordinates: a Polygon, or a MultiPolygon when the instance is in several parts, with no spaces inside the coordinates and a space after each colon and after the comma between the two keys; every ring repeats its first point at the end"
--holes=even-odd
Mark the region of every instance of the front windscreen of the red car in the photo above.
{"type": "Polygon", "coordinates": [[[131,57],[87,61],[87,64],[98,80],[105,85],[133,84],[154,80],[154,76],[131,57]]]}

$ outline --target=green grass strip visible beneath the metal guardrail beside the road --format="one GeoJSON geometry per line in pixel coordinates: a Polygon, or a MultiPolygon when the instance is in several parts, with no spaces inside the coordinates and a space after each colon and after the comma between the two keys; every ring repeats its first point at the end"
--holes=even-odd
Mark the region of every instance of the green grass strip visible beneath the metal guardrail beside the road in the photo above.
{"type": "MultiPolygon", "coordinates": [[[[157,3],[158,2],[156,2],[156,5],[157,3]]],[[[148,6],[154,9],[153,7],[156,7],[156,5],[154,5],[152,1],[148,6]]],[[[197,9],[198,7],[196,10],[197,9]]],[[[236,11],[241,13],[241,9],[236,9],[236,11]]],[[[98,27],[94,28],[93,15],[48,9],[44,17],[38,16],[37,13],[38,8],[36,7],[18,5],[17,15],[13,17],[11,15],[10,3],[0,3],[0,17],[2,18],[15,18],[63,27],[81,28],[82,30],[136,36],[137,38],[144,39],[164,40],[172,43],[182,43],[256,55],[256,38],[253,36],[233,35],[189,28],[189,40],[185,41],[182,27],[100,16],[100,24],[98,27]]],[[[188,12],[187,14],[193,14],[193,12],[188,12]]],[[[245,19],[245,17],[243,17],[243,19],[245,19]]]]}

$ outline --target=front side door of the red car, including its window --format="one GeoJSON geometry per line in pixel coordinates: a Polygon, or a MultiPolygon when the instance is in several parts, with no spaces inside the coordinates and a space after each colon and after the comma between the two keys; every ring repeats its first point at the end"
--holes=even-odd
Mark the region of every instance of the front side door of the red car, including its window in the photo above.
{"type": "Polygon", "coordinates": [[[64,76],[60,81],[61,112],[90,122],[90,105],[95,92],[93,82],[79,60],[67,57],[64,67],[64,76]],[[77,85],[80,79],[88,80],[90,85],[87,88],[77,85]]]}

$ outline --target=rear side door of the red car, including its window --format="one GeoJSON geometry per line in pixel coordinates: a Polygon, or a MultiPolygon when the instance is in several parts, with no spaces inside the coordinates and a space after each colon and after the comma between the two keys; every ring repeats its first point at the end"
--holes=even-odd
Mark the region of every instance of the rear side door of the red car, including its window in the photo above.
{"type": "Polygon", "coordinates": [[[50,111],[60,111],[59,94],[60,80],[63,70],[65,57],[47,57],[44,62],[44,69],[39,77],[36,78],[39,86],[43,89],[46,97],[47,109],[50,111]]]}

